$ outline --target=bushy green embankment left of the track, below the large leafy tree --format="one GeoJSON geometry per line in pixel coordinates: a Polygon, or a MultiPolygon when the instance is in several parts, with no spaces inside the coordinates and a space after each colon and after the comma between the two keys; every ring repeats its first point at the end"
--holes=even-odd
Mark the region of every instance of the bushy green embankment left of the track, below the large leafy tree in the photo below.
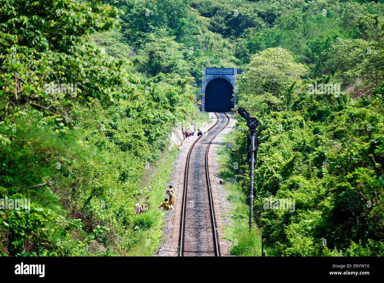
{"type": "Polygon", "coordinates": [[[15,119],[15,133],[2,124],[12,135],[1,151],[8,172],[2,198],[31,199],[30,212],[1,211],[4,254],[151,255],[162,229],[156,207],[177,152],[168,151],[174,126],[159,129],[151,143],[145,135],[151,129],[132,125],[127,107],[124,101],[76,107],[73,129],[59,133],[49,123],[36,126],[38,118],[15,119]],[[53,182],[17,189],[31,180],[53,182]],[[137,202],[147,204],[140,216],[137,202]],[[8,230],[23,226],[28,230],[8,230]]]}

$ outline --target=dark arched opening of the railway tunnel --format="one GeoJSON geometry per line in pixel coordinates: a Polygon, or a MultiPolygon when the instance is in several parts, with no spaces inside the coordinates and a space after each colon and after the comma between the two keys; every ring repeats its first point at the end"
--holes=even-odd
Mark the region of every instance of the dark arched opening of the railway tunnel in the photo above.
{"type": "Polygon", "coordinates": [[[226,79],[218,77],[205,87],[205,111],[229,112],[233,108],[233,87],[226,79]]]}

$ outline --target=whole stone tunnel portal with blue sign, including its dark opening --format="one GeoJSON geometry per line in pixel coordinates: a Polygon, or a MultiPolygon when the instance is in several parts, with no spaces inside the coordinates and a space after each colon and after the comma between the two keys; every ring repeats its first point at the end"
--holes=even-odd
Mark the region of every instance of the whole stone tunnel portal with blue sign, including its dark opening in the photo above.
{"type": "Polygon", "coordinates": [[[237,68],[205,68],[201,82],[202,111],[228,112],[236,105],[236,74],[237,68]]]}

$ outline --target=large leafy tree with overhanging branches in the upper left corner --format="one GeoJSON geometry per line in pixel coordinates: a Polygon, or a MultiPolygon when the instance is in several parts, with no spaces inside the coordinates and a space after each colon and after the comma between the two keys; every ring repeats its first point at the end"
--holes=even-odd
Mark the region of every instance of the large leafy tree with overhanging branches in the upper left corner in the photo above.
{"type": "Polygon", "coordinates": [[[123,96],[116,86],[134,87],[136,78],[123,69],[129,62],[104,55],[88,41],[88,35],[95,31],[119,26],[113,19],[119,16],[119,10],[100,4],[100,1],[79,4],[74,0],[3,2],[0,8],[2,111],[32,106],[50,115],[60,115],[58,112],[73,100],[86,103],[95,98],[113,100],[123,96]],[[48,84],[55,84],[53,91],[48,84]],[[76,84],[76,93],[68,94],[68,84],[72,92],[76,84]]]}

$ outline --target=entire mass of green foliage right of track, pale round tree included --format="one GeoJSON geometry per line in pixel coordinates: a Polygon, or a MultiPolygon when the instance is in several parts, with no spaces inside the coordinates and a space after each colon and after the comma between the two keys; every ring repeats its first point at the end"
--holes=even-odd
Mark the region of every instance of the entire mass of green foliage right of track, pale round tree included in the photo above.
{"type": "MultiPolygon", "coordinates": [[[[371,6],[358,7],[363,14],[371,6]]],[[[350,26],[359,38],[338,38],[321,52],[327,75],[300,79],[297,68],[283,67],[278,49],[269,48],[239,76],[237,106],[260,120],[254,210],[270,255],[384,255],[384,17],[366,13],[350,26]],[[287,73],[278,76],[287,79],[276,92],[275,76],[263,76],[268,66],[287,73]],[[340,83],[344,92],[311,92],[315,82],[340,83]],[[295,211],[266,206],[270,197],[294,199],[295,211]]],[[[240,116],[238,126],[231,161],[239,163],[247,191],[240,116]]]]}

